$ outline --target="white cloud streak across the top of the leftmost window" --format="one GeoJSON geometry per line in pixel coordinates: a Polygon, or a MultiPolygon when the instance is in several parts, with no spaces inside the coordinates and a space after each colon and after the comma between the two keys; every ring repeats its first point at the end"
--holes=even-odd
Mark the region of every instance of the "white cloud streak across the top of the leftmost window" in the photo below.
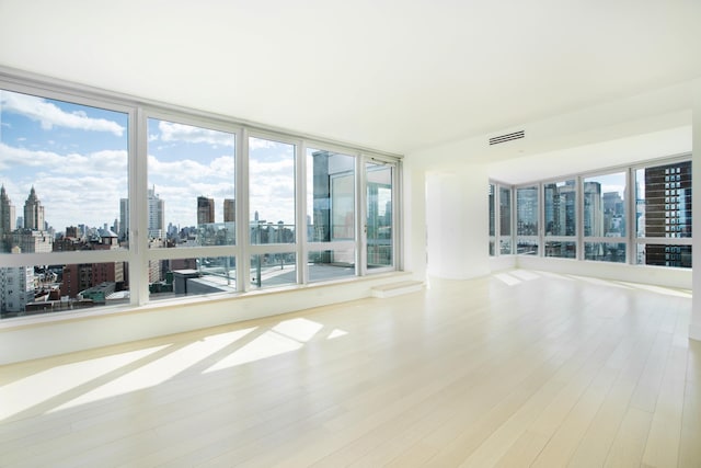
{"type": "Polygon", "coordinates": [[[32,95],[0,91],[0,106],[3,112],[24,115],[50,130],[54,126],[78,128],[91,132],[110,132],[123,136],[125,128],[116,122],[91,118],[84,112],[68,113],[50,102],[32,95]]]}

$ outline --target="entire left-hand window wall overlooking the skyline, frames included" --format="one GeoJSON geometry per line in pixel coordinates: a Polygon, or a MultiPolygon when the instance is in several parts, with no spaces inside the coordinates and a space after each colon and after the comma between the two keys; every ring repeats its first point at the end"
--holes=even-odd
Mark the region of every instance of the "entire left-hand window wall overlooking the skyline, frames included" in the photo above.
{"type": "Polygon", "coordinates": [[[67,87],[0,82],[1,318],[397,269],[398,157],[67,87]]]}

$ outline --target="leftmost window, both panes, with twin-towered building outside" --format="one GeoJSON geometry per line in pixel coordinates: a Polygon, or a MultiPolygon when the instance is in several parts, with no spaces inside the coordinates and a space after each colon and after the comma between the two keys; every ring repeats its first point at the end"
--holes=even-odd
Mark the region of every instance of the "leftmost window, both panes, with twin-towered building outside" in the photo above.
{"type": "Polygon", "coordinates": [[[128,304],[130,109],[0,90],[0,317],[128,304]]]}

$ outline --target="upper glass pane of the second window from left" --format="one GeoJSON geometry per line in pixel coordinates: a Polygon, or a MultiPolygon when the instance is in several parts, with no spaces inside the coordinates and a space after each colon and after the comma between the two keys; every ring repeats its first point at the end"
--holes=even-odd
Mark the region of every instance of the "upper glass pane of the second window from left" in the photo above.
{"type": "Polygon", "coordinates": [[[235,242],[235,135],[148,119],[149,247],[235,242]]]}

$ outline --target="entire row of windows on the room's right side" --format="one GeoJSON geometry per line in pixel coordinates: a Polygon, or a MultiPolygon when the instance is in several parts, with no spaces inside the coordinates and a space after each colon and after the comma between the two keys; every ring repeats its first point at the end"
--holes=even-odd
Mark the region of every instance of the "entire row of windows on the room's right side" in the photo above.
{"type": "Polygon", "coordinates": [[[691,267],[691,185],[686,155],[519,186],[510,236],[509,189],[491,183],[489,235],[502,247],[494,254],[510,253],[515,239],[521,254],[691,267]]]}

